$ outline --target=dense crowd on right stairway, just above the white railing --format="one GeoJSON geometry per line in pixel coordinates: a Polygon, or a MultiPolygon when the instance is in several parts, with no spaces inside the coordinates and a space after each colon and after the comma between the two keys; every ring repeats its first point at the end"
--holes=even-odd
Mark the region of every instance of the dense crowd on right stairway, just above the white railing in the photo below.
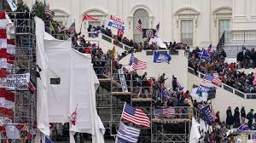
{"type": "Polygon", "coordinates": [[[222,83],[229,85],[235,89],[238,89],[244,93],[255,93],[256,86],[253,85],[253,73],[245,74],[239,72],[238,65],[236,63],[226,63],[224,59],[226,54],[224,50],[213,51],[211,54],[212,62],[201,59],[201,49],[194,49],[189,54],[189,67],[193,68],[195,74],[197,72],[211,73],[214,76],[218,76],[222,83]]]}

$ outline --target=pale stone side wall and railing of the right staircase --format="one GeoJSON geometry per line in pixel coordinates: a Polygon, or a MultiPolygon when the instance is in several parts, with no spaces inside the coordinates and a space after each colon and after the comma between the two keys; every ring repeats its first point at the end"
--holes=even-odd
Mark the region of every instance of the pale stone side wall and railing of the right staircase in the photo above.
{"type": "Polygon", "coordinates": [[[212,100],[213,109],[220,112],[220,120],[225,121],[226,109],[228,106],[232,107],[232,110],[238,106],[245,106],[247,112],[250,109],[255,108],[256,94],[246,94],[238,89],[234,89],[229,85],[222,84],[221,87],[216,86],[212,83],[202,83],[202,78],[204,74],[198,72],[195,74],[192,68],[188,68],[188,89],[192,89],[193,84],[207,85],[216,87],[216,98],[212,100]]]}

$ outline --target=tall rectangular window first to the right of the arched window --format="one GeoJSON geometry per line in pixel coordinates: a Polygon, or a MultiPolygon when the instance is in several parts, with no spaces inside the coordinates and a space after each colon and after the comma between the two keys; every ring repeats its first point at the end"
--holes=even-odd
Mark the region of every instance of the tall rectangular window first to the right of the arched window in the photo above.
{"type": "Polygon", "coordinates": [[[193,45],[193,20],[181,20],[181,41],[193,45]]]}

